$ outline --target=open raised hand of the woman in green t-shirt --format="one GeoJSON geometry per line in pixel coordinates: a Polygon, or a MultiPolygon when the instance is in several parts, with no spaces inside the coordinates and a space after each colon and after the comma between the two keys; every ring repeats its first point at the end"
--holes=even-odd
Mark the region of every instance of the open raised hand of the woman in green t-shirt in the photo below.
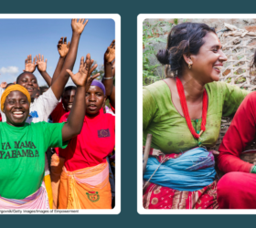
{"type": "Polygon", "coordinates": [[[77,87],[90,87],[92,80],[100,76],[100,73],[91,76],[92,71],[96,67],[98,67],[97,64],[91,67],[91,56],[87,54],[85,62],[84,57],[80,58],[80,69],[77,74],[73,74],[69,69],[67,69],[67,72],[77,87]]]}

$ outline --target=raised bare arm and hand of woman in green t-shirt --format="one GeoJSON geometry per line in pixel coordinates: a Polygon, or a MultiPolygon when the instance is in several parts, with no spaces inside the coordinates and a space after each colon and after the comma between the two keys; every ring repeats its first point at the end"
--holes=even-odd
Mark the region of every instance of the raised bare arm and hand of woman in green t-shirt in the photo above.
{"type": "Polygon", "coordinates": [[[100,74],[91,77],[91,72],[97,67],[91,67],[91,61],[89,57],[86,58],[86,62],[83,62],[83,57],[80,59],[80,70],[77,74],[73,74],[69,69],[69,75],[73,82],[77,86],[75,100],[70,110],[68,122],[62,128],[62,140],[70,140],[76,135],[80,134],[80,130],[83,125],[83,119],[85,116],[85,94],[91,86],[91,82],[94,78],[97,78],[100,74]]]}

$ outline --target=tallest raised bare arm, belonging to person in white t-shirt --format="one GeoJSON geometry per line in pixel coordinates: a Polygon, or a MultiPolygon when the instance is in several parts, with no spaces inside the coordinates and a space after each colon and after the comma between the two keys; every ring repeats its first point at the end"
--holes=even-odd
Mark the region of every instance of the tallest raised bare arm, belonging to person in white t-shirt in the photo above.
{"type": "Polygon", "coordinates": [[[64,66],[62,67],[59,77],[52,83],[51,89],[57,99],[60,98],[63,88],[69,80],[69,73],[67,69],[72,70],[76,61],[77,51],[79,47],[80,34],[86,26],[88,20],[84,23],[85,19],[72,19],[72,39],[69,47],[69,53],[65,59],[64,66]]]}

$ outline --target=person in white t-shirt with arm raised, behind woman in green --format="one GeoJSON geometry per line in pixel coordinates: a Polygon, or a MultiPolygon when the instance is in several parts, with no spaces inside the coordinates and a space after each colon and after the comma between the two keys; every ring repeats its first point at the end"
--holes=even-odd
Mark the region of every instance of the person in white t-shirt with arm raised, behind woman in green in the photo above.
{"type": "MultiPolygon", "coordinates": [[[[35,99],[29,109],[29,116],[27,118],[27,123],[36,123],[40,121],[48,121],[48,116],[52,112],[53,109],[59,104],[59,98],[62,94],[63,88],[67,84],[69,80],[69,74],[67,73],[66,69],[72,70],[76,57],[77,57],[77,51],[79,47],[79,41],[80,41],[80,35],[88,23],[88,20],[85,21],[85,19],[72,19],[71,20],[71,28],[72,28],[72,38],[71,38],[71,44],[69,46],[69,51],[67,57],[65,57],[65,61],[63,64],[63,67],[61,68],[59,72],[59,65],[61,65],[61,62],[63,59],[59,60],[60,64],[57,66],[59,76],[52,82],[51,87],[48,89],[47,92],[45,92],[42,96],[39,96],[39,98],[35,99]]],[[[39,59],[42,62],[42,67],[46,64],[45,61],[42,61],[42,59],[39,59]],[[45,63],[45,64],[44,64],[45,63]]],[[[33,94],[34,90],[38,89],[37,84],[37,78],[33,75],[33,72],[35,71],[37,67],[36,63],[36,57],[34,57],[34,60],[32,62],[32,57],[29,55],[26,59],[26,67],[25,72],[20,74],[16,78],[16,83],[27,88],[28,93],[30,94],[31,100],[34,99],[33,94]]],[[[46,74],[43,74],[46,75],[46,74]]],[[[4,92],[4,89],[0,88],[0,96],[4,92]]],[[[6,121],[5,119],[5,113],[2,112],[2,121],[6,121]]],[[[48,161],[46,159],[46,186],[48,190],[48,197],[49,197],[49,203],[50,208],[52,208],[52,193],[51,193],[51,181],[49,177],[49,171],[48,171],[48,161]]]]}

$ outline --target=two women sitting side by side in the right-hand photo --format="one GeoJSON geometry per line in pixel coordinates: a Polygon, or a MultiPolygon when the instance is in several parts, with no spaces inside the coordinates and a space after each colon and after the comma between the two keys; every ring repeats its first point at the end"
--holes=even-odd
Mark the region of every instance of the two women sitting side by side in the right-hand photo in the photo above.
{"type": "Polygon", "coordinates": [[[166,78],[144,87],[144,145],[152,134],[144,208],[256,209],[256,166],[240,160],[256,133],[256,92],[219,82],[227,57],[215,29],[174,26],[156,57],[166,78]],[[221,117],[234,114],[219,151],[210,150],[221,117]]]}

